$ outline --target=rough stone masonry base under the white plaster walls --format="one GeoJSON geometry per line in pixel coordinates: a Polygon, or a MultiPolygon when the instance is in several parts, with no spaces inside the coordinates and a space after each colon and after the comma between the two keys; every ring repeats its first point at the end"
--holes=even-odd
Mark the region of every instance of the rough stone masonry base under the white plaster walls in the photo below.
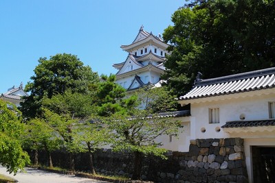
{"type": "MultiPolygon", "coordinates": [[[[189,152],[170,151],[168,160],[144,157],[142,179],[154,182],[248,182],[243,139],[197,139],[189,152]]],[[[102,173],[131,175],[133,156],[98,151],[96,167],[102,173]]]]}

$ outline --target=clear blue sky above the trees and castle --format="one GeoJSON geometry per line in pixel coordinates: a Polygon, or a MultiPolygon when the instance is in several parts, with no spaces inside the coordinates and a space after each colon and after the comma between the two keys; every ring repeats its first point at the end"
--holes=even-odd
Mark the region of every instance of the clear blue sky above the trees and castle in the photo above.
{"type": "Polygon", "coordinates": [[[99,74],[116,73],[141,25],[162,34],[181,0],[0,1],[0,93],[30,81],[40,57],[72,53],[99,74]]]}

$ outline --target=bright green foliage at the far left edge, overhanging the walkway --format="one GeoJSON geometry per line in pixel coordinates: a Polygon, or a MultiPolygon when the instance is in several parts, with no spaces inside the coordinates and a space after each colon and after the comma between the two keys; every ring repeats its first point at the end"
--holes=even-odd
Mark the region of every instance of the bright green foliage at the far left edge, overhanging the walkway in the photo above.
{"type": "Polygon", "coordinates": [[[24,127],[21,121],[21,112],[17,107],[0,100],[0,164],[14,174],[30,163],[28,153],[21,147],[24,127]]]}

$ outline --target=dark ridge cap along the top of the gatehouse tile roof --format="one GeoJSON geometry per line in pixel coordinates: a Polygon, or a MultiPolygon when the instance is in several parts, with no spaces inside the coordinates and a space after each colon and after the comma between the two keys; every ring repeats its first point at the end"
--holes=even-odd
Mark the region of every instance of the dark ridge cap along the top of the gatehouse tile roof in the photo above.
{"type": "Polygon", "coordinates": [[[201,80],[199,82],[196,82],[196,86],[201,85],[210,85],[210,84],[217,84],[222,82],[231,82],[232,80],[245,80],[252,77],[259,77],[263,75],[270,75],[275,73],[275,67],[267,68],[267,69],[261,69],[256,71],[248,71],[245,73],[237,73],[232,75],[225,75],[221,77],[214,77],[206,80],[201,80]]]}

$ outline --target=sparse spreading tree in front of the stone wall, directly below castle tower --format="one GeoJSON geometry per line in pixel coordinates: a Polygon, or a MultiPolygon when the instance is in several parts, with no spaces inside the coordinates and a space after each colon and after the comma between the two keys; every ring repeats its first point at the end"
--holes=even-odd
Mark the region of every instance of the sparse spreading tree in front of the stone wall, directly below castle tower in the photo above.
{"type": "Polygon", "coordinates": [[[169,97],[164,91],[163,88],[149,90],[142,88],[136,94],[140,105],[128,108],[124,115],[119,112],[115,113],[111,116],[111,120],[107,121],[114,136],[113,150],[133,152],[135,157],[133,180],[139,180],[141,177],[142,154],[166,158],[164,156],[166,149],[160,148],[162,143],[157,142],[157,138],[163,135],[177,136],[180,122],[170,120],[170,118],[161,118],[157,114],[157,112],[165,112],[175,106],[175,97],[169,97]],[[166,100],[168,98],[171,99],[170,102],[166,100]],[[164,105],[167,110],[158,107],[164,105]]]}

